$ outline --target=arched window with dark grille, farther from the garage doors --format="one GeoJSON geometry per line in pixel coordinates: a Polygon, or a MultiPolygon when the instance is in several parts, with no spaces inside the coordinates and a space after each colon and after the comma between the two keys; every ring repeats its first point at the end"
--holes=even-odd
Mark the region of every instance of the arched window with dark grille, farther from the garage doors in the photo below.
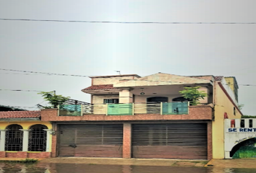
{"type": "Polygon", "coordinates": [[[21,125],[8,125],[5,135],[5,151],[22,151],[23,131],[21,125]]]}

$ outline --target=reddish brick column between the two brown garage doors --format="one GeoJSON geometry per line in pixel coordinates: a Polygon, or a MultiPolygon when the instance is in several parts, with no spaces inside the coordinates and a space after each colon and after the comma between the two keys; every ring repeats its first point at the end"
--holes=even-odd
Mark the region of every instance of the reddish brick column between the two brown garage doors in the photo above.
{"type": "Polygon", "coordinates": [[[123,158],[130,159],[132,157],[132,124],[124,123],[123,136],[123,158]]]}

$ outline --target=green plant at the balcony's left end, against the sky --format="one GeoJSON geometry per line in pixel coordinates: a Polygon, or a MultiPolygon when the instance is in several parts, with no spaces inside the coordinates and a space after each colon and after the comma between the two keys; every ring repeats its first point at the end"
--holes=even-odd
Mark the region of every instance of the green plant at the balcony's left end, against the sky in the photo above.
{"type": "MultiPolygon", "coordinates": [[[[57,108],[58,105],[61,105],[64,102],[67,102],[67,100],[70,98],[70,97],[64,97],[62,95],[56,95],[54,92],[39,92],[38,94],[42,94],[43,99],[48,101],[48,103],[51,105],[49,107],[44,107],[46,109],[57,108]]],[[[43,107],[41,105],[39,106],[43,107]]]]}

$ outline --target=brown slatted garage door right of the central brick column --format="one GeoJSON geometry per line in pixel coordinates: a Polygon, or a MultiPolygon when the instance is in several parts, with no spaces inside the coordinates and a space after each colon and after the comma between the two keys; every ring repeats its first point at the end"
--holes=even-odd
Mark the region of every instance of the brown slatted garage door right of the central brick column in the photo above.
{"type": "Polygon", "coordinates": [[[134,124],[132,157],[207,159],[207,124],[134,124]]]}

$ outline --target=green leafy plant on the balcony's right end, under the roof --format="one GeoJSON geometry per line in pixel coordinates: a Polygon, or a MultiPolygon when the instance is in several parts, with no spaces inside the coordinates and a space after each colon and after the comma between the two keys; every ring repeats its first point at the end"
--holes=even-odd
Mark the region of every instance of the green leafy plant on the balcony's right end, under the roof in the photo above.
{"type": "Polygon", "coordinates": [[[190,102],[191,105],[197,105],[199,102],[199,99],[204,99],[204,97],[207,96],[205,92],[200,92],[198,89],[200,89],[201,86],[195,86],[195,87],[184,87],[182,91],[179,91],[180,94],[185,99],[191,99],[192,102],[190,102]]]}

